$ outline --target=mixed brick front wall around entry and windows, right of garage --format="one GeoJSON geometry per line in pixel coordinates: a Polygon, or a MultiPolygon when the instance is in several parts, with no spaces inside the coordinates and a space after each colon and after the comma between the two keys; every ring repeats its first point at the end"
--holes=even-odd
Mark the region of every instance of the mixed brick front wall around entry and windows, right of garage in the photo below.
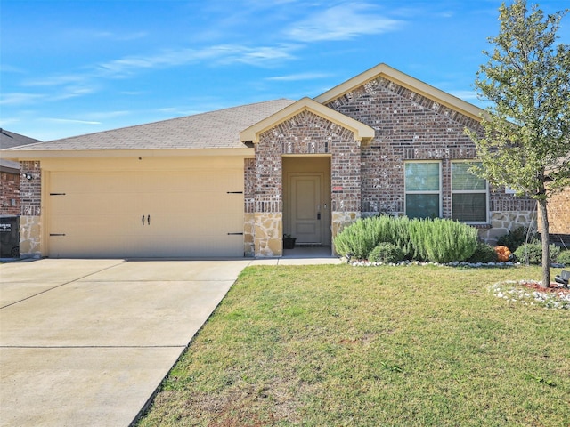
{"type": "MultiPolygon", "coordinates": [[[[328,154],[333,238],[346,223],[361,216],[405,214],[407,160],[441,162],[442,216],[452,217],[452,161],[476,157],[475,144],[464,133],[465,127],[482,132],[476,119],[384,77],[326,106],[371,126],[372,141],[361,146],[353,132],[308,110],[275,125],[260,135],[253,162],[246,161],[247,213],[282,213],[281,156],[328,154]],[[248,182],[252,179],[253,185],[248,182]]],[[[488,224],[479,227],[480,235],[493,240],[518,225],[534,225],[535,212],[532,199],[491,189],[488,224]]],[[[266,255],[257,250],[255,254],[266,255]]]]}

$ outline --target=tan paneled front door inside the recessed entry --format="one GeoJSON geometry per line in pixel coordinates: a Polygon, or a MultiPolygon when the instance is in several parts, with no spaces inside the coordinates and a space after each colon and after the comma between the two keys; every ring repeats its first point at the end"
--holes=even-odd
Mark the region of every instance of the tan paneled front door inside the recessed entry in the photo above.
{"type": "Polygon", "coordinates": [[[289,176],[289,220],[297,243],[322,243],[322,174],[289,176]]]}

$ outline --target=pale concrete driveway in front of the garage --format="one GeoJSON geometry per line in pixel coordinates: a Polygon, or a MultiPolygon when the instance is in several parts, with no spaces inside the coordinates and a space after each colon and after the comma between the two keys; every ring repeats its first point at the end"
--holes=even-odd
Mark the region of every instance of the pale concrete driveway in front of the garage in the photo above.
{"type": "Polygon", "coordinates": [[[249,263],[0,265],[0,425],[128,426],[249,263]]]}

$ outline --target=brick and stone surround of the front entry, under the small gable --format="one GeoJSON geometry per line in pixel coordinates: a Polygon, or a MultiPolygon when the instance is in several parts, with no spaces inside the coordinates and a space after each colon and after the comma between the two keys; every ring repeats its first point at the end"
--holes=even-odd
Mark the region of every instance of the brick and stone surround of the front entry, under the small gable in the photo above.
{"type": "MultiPolygon", "coordinates": [[[[332,227],[344,214],[360,212],[360,149],[354,133],[305,110],[260,135],[253,165],[254,185],[246,189],[246,214],[255,216],[256,256],[282,255],[283,155],[331,156],[332,227]]],[[[246,161],[245,178],[251,177],[246,161]]],[[[333,234],[334,236],[334,234],[333,234]]]]}

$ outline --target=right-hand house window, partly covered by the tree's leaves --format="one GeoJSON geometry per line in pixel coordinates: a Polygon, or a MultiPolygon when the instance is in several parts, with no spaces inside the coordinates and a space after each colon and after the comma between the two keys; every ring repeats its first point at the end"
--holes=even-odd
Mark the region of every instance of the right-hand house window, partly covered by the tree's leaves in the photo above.
{"type": "Polygon", "coordinates": [[[487,222],[487,181],[469,172],[471,163],[452,162],[452,218],[487,222]]]}

